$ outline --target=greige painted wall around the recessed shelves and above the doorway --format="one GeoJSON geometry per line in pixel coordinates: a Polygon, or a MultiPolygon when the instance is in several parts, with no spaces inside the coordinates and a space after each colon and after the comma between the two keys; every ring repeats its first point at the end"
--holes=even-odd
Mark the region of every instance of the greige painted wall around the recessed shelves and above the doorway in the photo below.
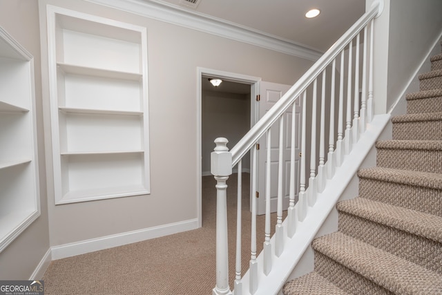
{"type": "MultiPolygon", "coordinates": [[[[46,160],[51,246],[197,218],[197,67],[293,84],[312,64],[305,59],[85,1],[41,0],[39,3],[43,26],[46,26],[44,7],[50,3],[145,26],[148,36],[151,194],[55,206],[48,144],[46,160]]],[[[43,27],[42,40],[46,39],[45,32],[46,28],[43,27]]],[[[48,93],[46,41],[42,45],[43,88],[44,93],[48,93]]],[[[45,114],[48,114],[47,101],[44,107],[45,114]]],[[[49,120],[46,120],[46,128],[49,128],[49,120]]]]}

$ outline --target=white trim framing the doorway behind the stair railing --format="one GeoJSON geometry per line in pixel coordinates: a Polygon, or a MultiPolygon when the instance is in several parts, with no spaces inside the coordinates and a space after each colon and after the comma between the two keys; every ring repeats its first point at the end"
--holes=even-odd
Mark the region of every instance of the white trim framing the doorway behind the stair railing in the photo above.
{"type": "Polygon", "coordinates": [[[201,124],[202,124],[202,76],[203,75],[209,75],[209,76],[216,76],[220,77],[221,79],[224,79],[229,82],[238,82],[243,84],[250,84],[250,96],[251,96],[251,114],[250,114],[250,120],[251,120],[251,126],[256,123],[256,120],[258,120],[258,107],[256,103],[256,99],[253,99],[253,97],[256,97],[260,93],[260,77],[254,77],[249,75],[242,75],[238,73],[230,73],[225,72],[223,70],[214,70],[211,68],[202,68],[197,67],[197,95],[196,95],[196,106],[197,106],[197,122],[196,122],[196,161],[197,161],[197,171],[196,171],[196,187],[197,187],[197,203],[196,203],[196,209],[197,209],[197,218],[198,218],[198,227],[202,227],[202,187],[201,187],[201,178],[202,178],[202,151],[201,151],[201,143],[202,143],[202,131],[201,131],[201,124]]]}

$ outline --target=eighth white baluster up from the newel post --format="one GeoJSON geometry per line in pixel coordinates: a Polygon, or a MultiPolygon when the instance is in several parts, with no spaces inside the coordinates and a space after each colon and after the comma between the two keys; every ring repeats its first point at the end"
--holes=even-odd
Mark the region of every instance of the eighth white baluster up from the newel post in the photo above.
{"type": "Polygon", "coordinates": [[[318,192],[322,193],[327,180],[327,170],[325,169],[325,72],[323,70],[323,84],[320,101],[320,140],[319,140],[319,166],[318,166],[318,192]]]}

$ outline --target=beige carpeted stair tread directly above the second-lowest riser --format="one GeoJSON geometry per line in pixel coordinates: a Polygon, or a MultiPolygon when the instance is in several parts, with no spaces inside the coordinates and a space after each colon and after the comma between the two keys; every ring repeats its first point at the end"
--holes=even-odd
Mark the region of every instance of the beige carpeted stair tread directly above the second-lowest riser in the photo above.
{"type": "Polygon", "coordinates": [[[366,198],[338,202],[336,209],[416,236],[442,242],[442,218],[439,216],[366,198]]]}

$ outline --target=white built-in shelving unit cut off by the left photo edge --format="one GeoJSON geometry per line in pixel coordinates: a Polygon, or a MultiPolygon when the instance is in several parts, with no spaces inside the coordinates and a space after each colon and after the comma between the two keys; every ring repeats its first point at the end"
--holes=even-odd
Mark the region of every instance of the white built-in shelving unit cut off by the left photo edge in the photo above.
{"type": "Polygon", "coordinates": [[[0,251],[40,215],[34,59],[0,27],[0,251]]]}

